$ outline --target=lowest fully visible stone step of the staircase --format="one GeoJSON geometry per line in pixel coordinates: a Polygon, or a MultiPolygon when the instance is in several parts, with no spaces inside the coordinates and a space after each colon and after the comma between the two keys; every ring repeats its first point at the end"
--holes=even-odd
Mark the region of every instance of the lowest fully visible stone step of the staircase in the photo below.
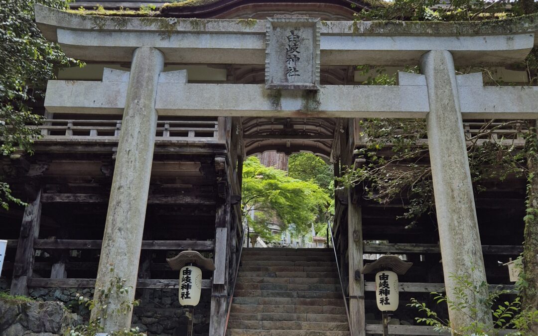
{"type": "Polygon", "coordinates": [[[348,323],[344,322],[229,320],[228,327],[230,329],[253,330],[349,331],[348,323]]]}

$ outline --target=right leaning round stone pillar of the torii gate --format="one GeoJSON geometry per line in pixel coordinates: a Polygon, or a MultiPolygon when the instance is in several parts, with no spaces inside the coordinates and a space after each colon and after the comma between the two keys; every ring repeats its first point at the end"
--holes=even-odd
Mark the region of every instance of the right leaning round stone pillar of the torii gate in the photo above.
{"type": "MultiPolygon", "coordinates": [[[[455,275],[466,276],[475,284],[487,282],[454,60],[448,51],[430,51],[422,56],[421,69],[428,84],[430,112],[426,123],[444,283],[448,298],[457,301],[455,275]]],[[[487,287],[481,295],[487,296],[487,287]]],[[[477,304],[477,308],[476,319],[492,324],[487,307],[477,304]]],[[[449,310],[452,327],[457,329],[470,325],[473,315],[449,310]]]]}

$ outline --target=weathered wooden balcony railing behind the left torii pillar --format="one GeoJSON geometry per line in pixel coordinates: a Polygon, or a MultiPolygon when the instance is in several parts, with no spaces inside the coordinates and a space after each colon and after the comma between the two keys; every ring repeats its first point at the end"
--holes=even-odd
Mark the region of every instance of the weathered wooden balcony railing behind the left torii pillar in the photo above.
{"type": "MultiPolygon", "coordinates": [[[[44,119],[42,122],[37,127],[45,140],[117,140],[122,128],[122,120],[44,119]]],[[[223,142],[218,124],[217,119],[159,120],[155,140],[223,142]]]]}

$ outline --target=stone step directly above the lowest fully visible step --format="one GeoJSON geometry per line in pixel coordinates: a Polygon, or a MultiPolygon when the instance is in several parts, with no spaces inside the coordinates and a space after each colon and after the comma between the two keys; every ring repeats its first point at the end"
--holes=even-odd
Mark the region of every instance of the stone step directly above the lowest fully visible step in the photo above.
{"type": "Polygon", "coordinates": [[[313,313],[230,313],[230,320],[239,321],[301,321],[301,322],[344,322],[348,317],[341,314],[313,313]]]}

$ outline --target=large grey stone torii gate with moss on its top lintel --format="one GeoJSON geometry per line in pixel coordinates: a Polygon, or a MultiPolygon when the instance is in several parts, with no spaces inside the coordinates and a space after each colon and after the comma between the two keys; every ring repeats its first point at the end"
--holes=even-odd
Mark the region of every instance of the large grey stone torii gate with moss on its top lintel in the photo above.
{"type": "MultiPolygon", "coordinates": [[[[289,67],[283,66],[282,54],[274,56],[284,53],[282,42],[290,41],[282,31],[295,29],[299,18],[243,25],[237,20],[88,17],[38,5],[36,20],[45,37],[73,58],[131,63],[130,73],[105,69],[101,82],[49,81],[47,88],[48,112],[124,116],[96,286],[108,283],[112,274],[136,286],[158,115],[426,118],[447,295],[454,298],[452,274],[486,281],[462,118],[536,119],[538,88],[484,87],[481,74],[456,75],[455,66],[522,61],[537,44],[538,24],[532,20],[381,24],[309,19],[314,24],[305,31],[312,41],[301,55],[308,64],[292,66],[308,74],[301,82],[289,72],[278,73],[289,67]],[[162,72],[165,62],[265,64],[267,84],[188,83],[184,72],[162,72]],[[319,85],[320,64],[419,63],[422,74],[400,73],[395,86],[319,85]]],[[[360,231],[360,220],[348,230],[360,231]]],[[[362,255],[361,240],[349,248],[362,255]]],[[[350,274],[360,268],[362,258],[350,264],[350,274]]],[[[364,335],[363,279],[350,277],[349,288],[353,334],[364,335]]],[[[468,323],[465,314],[449,313],[454,326],[468,323]]],[[[484,308],[482,313],[484,323],[491,323],[489,312],[484,308]]],[[[130,316],[110,317],[105,331],[130,322],[130,316]]],[[[210,334],[218,335],[222,323],[212,314],[210,334]]]]}

